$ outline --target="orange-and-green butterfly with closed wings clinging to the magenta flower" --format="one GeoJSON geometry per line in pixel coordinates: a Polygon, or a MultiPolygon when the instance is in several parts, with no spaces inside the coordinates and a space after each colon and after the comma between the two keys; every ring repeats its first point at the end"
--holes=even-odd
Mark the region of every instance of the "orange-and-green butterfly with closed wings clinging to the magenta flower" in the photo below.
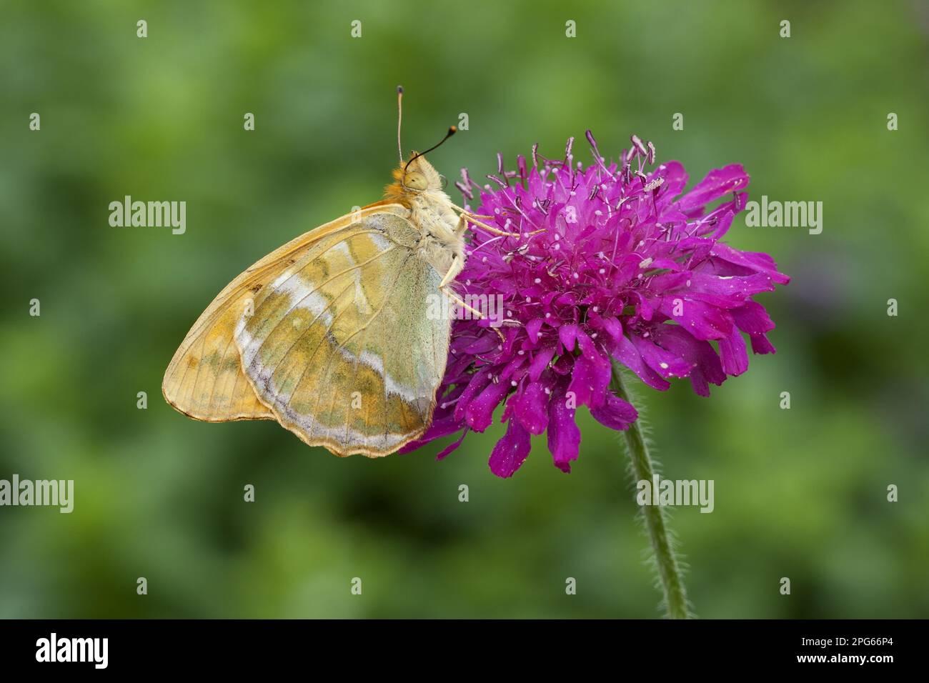
{"type": "MultiPolygon", "coordinates": [[[[300,235],[242,272],[184,337],[164,399],[196,420],[277,420],[339,456],[394,453],[432,421],[445,372],[449,316],[430,297],[480,316],[451,289],[469,225],[425,160],[399,167],[385,198],[300,235]]],[[[499,333],[498,333],[499,334],[499,333]]]]}

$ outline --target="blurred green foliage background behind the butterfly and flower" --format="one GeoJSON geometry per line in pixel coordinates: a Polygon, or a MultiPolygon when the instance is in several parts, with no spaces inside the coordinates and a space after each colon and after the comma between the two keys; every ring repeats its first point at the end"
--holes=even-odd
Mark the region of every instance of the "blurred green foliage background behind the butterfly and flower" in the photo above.
{"type": "Polygon", "coordinates": [[[639,404],[666,476],[715,481],[713,514],[673,520],[701,617],[929,616],[926,3],[442,5],[2,4],[0,479],[76,491],[71,515],[0,508],[0,617],[659,613],[621,441],[585,411],[570,475],[540,438],[502,480],[499,425],[440,463],[442,443],[338,459],[161,397],[238,272],[380,199],[399,83],[407,149],[468,113],[431,155],[449,177],[569,136],[586,163],[589,127],[608,156],[635,132],[692,182],[739,162],[752,199],[824,203],[820,235],[743,214],[726,238],[793,277],[760,297],[778,354],[710,399],[680,382],[639,404]],[[126,194],[186,201],[186,234],[111,228],[126,194]]]}

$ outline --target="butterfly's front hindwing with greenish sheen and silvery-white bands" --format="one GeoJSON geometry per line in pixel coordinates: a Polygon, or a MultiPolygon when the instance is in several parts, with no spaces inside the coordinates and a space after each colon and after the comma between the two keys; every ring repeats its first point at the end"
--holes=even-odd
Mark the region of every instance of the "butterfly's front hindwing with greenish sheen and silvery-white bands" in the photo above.
{"type": "Polygon", "coordinates": [[[235,341],[283,427],[337,455],[393,453],[432,420],[451,322],[429,315],[441,275],[399,212],[315,243],[255,299],[235,341]]]}

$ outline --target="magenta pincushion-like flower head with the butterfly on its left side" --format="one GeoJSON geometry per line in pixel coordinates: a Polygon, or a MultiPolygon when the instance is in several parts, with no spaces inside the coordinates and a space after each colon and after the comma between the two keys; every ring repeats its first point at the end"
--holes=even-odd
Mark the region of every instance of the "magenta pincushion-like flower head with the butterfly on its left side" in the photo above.
{"type": "Polygon", "coordinates": [[[650,387],[687,377],[709,396],[710,384],[748,368],[743,334],[754,353],[774,352],[766,337],[774,322],[752,296],[790,278],[770,256],[720,242],[748,197],[739,191],[749,184],[742,166],[715,169],[682,195],[682,164],[647,170],[650,142],[633,136],[621,164],[607,165],[590,131],[587,139],[595,159],[587,168],[573,162],[571,138],[563,161],[533,147],[530,169],[519,156],[518,170],[504,171],[498,154],[492,190],[462,171],[456,186],[465,198],[480,190],[476,213],[520,234],[475,230],[458,278],[461,296],[502,296],[504,340],[489,319],[454,322],[433,423],[404,451],[461,431],[442,458],[469,430],[489,427],[505,402],[493,473],[510,477],[530,452],[530,435],[545,432],[555,465],[569,472],[581,444],[577,406],[612,429],[637,418],[609,390],[611,359],[650,387]]]}

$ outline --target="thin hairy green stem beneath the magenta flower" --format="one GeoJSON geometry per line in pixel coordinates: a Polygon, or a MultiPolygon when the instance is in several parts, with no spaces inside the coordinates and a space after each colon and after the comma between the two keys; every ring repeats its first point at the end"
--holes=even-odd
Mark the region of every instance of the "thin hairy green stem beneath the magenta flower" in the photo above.
{"type": "MultiPolygon", "coordinates": [[[[613,362],[613,380],[610,384],[613,391],[624,401],[629,401],[626,388],[622,385],[622,366],[613,362]]],[[[636,481],[646,480],[651,485],[655,467],[648,455],[648,444],[642,435],[642,418],[636,420],[628,429],[622,432],[632,461],[633,474],[636,481]]],[[[664,592],[664,604],[668,616],[672,619],[687,619],[687,590],[681,577],[681,568],[674,554],[671,535],[667,527],[664,510],[659,505],[642,506],[645,516],[645,525],[648,529],[648,540],[651,542],[661,579],[661,590],[664,592]]]]}

